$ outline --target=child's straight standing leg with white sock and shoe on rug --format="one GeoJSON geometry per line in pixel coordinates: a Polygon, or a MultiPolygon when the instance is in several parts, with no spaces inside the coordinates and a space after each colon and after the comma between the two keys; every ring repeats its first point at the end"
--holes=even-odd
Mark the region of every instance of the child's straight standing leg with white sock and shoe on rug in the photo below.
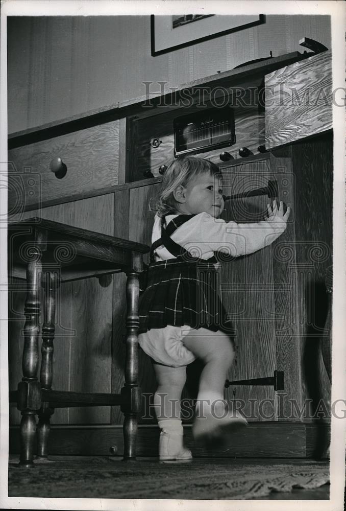
{"type": "Polygon", "coordinates": [[[153,365],[158,383],[154,407],[161,430],[160,459],[191,459],[191,452],[183,445],[183,426],[180,416],[180,400],[186,381],[186,366],[169,367],[157,363],[153,365]]]}

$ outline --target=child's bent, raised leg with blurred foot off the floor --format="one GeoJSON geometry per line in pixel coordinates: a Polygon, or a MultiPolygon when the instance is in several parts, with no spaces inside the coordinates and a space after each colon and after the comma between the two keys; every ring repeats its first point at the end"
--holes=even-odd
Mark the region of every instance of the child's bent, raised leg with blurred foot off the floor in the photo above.
{"type": "Polygon", "coordinates": [[[225,427],[237,428],[246,425],[239,412],[231,410],[227,415],[223,405],[227,371],[234,359],[233,344],[229,336],[220,331],[212,332],[200,328],[191,330],[182,342],[205,363],[197,396],[196,420],[192,429],[194,436],[212,439],[213,436],[220,435],[225,427]]]}

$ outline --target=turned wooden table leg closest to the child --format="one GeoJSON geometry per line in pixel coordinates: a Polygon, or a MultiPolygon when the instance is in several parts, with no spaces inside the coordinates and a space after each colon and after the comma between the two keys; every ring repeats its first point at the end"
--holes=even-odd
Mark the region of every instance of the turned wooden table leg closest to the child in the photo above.
{"type": "Polygon", "coordinates": [[[137,416],[140,410],[140,389],[138,387],[138,273],[128,273],[126,283],[126,361],[125,386],[121,389],[125,401],[121,411],[125,415],[123,423],[124,460],[136,459],[137,416]]]}

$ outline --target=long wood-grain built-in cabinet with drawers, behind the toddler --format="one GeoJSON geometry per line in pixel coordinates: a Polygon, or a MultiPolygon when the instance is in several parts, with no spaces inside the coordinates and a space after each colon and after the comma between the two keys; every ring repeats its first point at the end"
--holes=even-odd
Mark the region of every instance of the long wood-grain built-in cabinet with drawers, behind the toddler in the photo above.
{"type": "MultiPolygon", "coordinates": [[[[255,385],[233,385],[225,390],[228,400],[241,401],[252,422],[305,422],[304,409],[309,412],[307,399],[314,400],[309,405],[313,408],[318,399],[323,398],[328,403],[330,397],[330,382],[319,351],[320,342],[329,336],[324,327],[327,314],[325,275],[332,264],[333,146],[329,65],[328,52],[309,58],[292,54],[287,59],[270,59],[264,64],[253,64],[188,84],[169,98],[168,95],[153,98],[148,108],[144,108],[147,98],[143,98],[136,104],[86,115],[84,121],[89,123],[86,138],[73,147],[68,142],[73,123],[79,123],[73,133],[77,138],[72,137],[77,141],[78,133],[84,131],[81,120],[71,121],[73,126],[65,127],[60,137],[45,136],[44,140],[36,140],[38,135],[35,135],[35,143],[24,144],[18,135],[9,157],[18,166],[13,169],[12,184],[10,181],[12,220],[41,216],[150,245],[154,219],[150,202],[160,187],[158,169],[173,157],[173,120],[187,113],[186,108],[179,106],[182,92],[194,90],[192,111],[199,107],[198,98],[205,86],[209,87],[209,92],[206,98],[200,99],[207,104],[215,88],[219,88],[218,94],[227,91],[228,102],[235,108],[236,142],[199,156],[220,165],[226,195],[262,188],[269,180],[276,180],[279,198],[292,207],[287,229],[278,240],[256,253],[225,262],[222,268],[222,297],[237,330],[236,359],[229,371],[229,380],[269,377],[275,369],[284,372],[282,391],[275,391],[273,386],[255,385]],[[316,88],[316,77],[320,80],[319,88],[316,88]],[[285,83],[285,91],[294,88],[298,96],[305,94],[305,85],[311,85],[315,99],[318,91],[323,90],[319,99],[330,101],[321,110],[316,105],[306,108],[298,105],[297,108],[294,103],[274,107],[275,98],[273,100],[267,92],[272,86],[274,91],[280,92],[280,83],[285,83]],[[240,103],[235,101],[237,90],[245,90],[245,96],[240,95],[240,103]],[[265,111],[264,90],[266,100],[271,100],[265,111]],[[163,104],[160,104],[161,99],[163,104]],[[161,141],[158,147],[152,145],[155,137],[161,141]],[[57,155],[68,167],[63,179],[57,179],[49,170],[47,173],[52,153],[55,154],[55,146],[50,147],[48,139],[60,144],[56,146],[57,155]],[[258,146],[264,144],[270,152],[262,154],[260,151],[265,149],[258,149],[258,146]],[[240,157],[240,147],[248,148],[253,154],[240,157]],[[71,155],[71,164],[67,157],[64,159],[65,152],[60,153],[62,148],[67,151],[66,155],[71,155]],[[221,151],[230,153],[229,161],[220,163],[221,151]],[[41,188],[37,188],[35,182],[29,183],[31,171],[21,172],[22,166],[32,167],[33,172],[38,169],[41,188]],[[143,172],[147,170],[154,178],[143,179],[143,172]],[[16,174],[17,171],[20,172],[16,174]],[[44,207],[35,208],[40,200],[44,207]]],[[[29,140],[34,135],[26,136],[29,140]]],[[[263,195],[230,200],[223,218],[256,222],[266,214],[267,201],[268,197],[263,195]]],[[[145,255],[145,262],[148,257],[145,255]]],[[[23,300],[23,291],[13,287],[9,302],[11,389],[16,388],[21,377],[23,300]]],[[[119,391],[123,384],[125,355],[125,275],[115,274],[101,280],[94,277],[62,285],[60,304],[55,340],[55,367],[58,369],[53,386],[119,391]]],[[[195,397],[200,370],[198,364],[191,364],[183,397],[195,397]]],[[[141,350],[139,378],[143,392],[139,422],[154,424],[156,420],[150,404],[156,390],[155,375],[149,357],[141,350]]],[[[11,421],[18,422],[18,417],[19,413],[11,409],[11,421]]],[[[52,422],[117,425],[122,422],[122,414],[117,407],[60,409],[52,422]]]]}

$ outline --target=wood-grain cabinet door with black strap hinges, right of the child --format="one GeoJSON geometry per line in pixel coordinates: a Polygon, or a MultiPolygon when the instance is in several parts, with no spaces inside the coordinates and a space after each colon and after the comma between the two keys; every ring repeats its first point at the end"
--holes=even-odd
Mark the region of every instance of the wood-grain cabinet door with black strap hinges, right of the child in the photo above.
{"type": "MultiPolygon", "coordinates": [[[[268,160],[223,168],[226,195],[246,192],[267,184],[268,160]]],[[[223,218],[240,223],[265,217],[266,196],[228,201],[223,218]]],[[[223,263],[222,298],[236,329],[236,357],[230,380],[272,376],[276,368],[275,307],[272,248],[223,263]]],[[[231,386],[226,399],[239,400],[251,420],[275,420],[275,393],[269,386],[231,386]]]]}

